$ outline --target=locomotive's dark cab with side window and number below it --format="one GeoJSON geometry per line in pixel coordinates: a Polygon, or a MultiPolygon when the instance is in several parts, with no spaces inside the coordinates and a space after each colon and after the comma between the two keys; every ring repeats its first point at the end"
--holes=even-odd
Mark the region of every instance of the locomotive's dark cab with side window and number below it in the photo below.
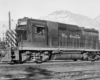
{"type": "Polygon", "coordinates": [[[19,19],[16,32],[19,46],[30,48],[47,47],[47,26],[46,22],[36,21],[35,19],[19,19]],[[22,44],[20,44],[22,43],[22,44]]]}

